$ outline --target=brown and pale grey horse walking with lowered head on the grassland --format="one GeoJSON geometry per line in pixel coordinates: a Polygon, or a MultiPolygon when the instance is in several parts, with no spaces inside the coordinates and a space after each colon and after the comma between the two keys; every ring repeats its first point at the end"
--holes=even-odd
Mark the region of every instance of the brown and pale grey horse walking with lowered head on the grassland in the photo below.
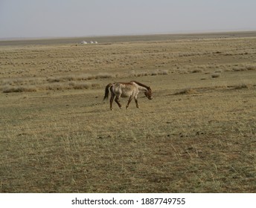
{"type": "Polygon", "coordinates": [[[108,100],[109,91],[111,93],[110,97],[110,110],[113,110],[112,103],[115,98],[115,103],[118,103],[119,108],[121,108],[121,103],[119,102],[120,97],[129,97],[126,108],[128,109],[129,103],[131,103],[132,98],[134,98],[136,107],[138,107],[138,93],[144,91],[145,96],[152,100],[152,91],[151,88],[147,85],[141,84],[140,82],[131,81],[131,82],[115,82],[109,83],[105,88],[105,96],[103,100],[108,100]]]}

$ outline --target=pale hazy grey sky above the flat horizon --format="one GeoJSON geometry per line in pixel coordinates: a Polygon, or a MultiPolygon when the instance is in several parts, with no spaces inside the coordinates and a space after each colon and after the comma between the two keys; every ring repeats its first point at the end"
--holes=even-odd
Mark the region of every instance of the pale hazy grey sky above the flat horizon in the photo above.
{"type": "Polygon", "coordinates": [[[0,38],[256,30],[256,0],[0,0],[0,38]]]}

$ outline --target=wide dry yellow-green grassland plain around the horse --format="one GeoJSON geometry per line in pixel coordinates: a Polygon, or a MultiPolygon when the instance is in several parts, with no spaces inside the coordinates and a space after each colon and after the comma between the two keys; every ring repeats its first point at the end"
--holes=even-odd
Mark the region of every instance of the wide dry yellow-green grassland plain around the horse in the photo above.
{"type": "Polygon", "coordinates": [[[0,192],[255,192],[256,33],[116,39],[1,42],[0,192]]]}

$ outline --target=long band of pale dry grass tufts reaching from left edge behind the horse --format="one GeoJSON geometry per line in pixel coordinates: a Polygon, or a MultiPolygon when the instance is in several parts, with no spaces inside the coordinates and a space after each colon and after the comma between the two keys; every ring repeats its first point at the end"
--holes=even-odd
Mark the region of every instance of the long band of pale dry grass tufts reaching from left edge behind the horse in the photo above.
{"type": "Polygon", "coordinates": [[[130,74],[66,74],[59,76],[51,76],[47,78],[6,78],[1,80],[1,91],[4,93],[10,92],[33,92],[45,90],[68,90],[68,89],[88,89],[99,88],[100,85],[93,81],[96,79],[109,79],[109,78],[124,78],[124,77],[144,77],[144,76],[157,76],[167,75],[167,70],[144,71],[135,73],[132,71],[130,74]]]}

